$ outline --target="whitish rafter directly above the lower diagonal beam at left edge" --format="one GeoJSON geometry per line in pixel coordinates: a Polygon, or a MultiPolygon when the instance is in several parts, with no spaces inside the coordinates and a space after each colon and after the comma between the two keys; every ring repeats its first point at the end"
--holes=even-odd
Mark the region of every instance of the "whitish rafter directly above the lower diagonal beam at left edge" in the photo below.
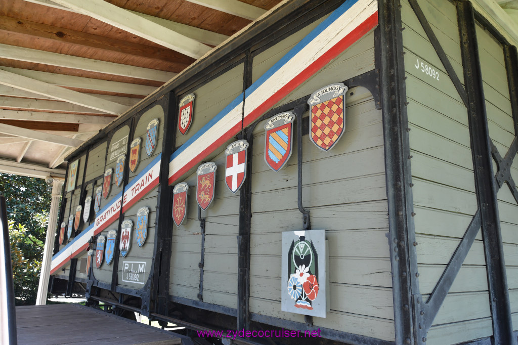
{"type": "Polygon", "coordinates": [[[126,94],[132,94],[132,95],[142,95],[142,96],[147,96],[151,92],[156,90],[156,87],[151,87],[148,85],[140,85],[140,84],[132,84],[132,83],[123,83],[120,81],[68,76],[65,74],[42,72],[39,70],[21,69],[21,68],[4,67],[4,66],[0,66],[0,69],[9,71],[11,73],[16,73],[20,76],[24,76],[27,78],[32,78],[32,79],[43,81],[43,82],[46,82],[49,84],[54,84],[54,85],[58,85],[58,86],[62,86],[62,87],[68,87],[68,88],[81,88],[81,89],[89,89],[89,90],[97,90],[97,91],[109,91],[109,92],[126,93],[126,94]]]}

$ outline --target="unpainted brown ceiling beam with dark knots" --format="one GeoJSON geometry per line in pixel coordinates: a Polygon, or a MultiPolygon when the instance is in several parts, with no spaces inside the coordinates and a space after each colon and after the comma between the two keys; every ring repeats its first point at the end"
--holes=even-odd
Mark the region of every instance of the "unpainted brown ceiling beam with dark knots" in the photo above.
{"type": "Polygon", "coordinates": [[[147,59],[163,60],[170,63],[172,71],[179,72],[195,60],[192,57],[171,51],[170,49],[151,47],[119,39],[68,30],[62,27],[31,22],[24,19],[0,16],[0,30],[9,34],[18,33],[34,37],[47,38],[67,44],[87,46],[109,50],[147,59]]]}

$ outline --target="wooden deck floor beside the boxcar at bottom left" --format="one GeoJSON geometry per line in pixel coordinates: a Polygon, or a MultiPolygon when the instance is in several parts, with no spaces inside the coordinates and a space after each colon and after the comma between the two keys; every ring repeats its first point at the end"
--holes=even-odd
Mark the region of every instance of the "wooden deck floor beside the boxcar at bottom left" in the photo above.
{"type": "Polygon", "coordinates": [[[162,329],[77,304],[16,307],[18,344],[181,344],[162,329]]]}

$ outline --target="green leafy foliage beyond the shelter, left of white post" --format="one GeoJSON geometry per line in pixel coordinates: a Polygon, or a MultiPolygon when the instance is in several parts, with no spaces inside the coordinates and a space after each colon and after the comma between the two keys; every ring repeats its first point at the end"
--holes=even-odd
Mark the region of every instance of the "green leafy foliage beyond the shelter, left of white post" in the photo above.
{"type": "Polygon", "coordinates": [[[43,179],[0,174],[6,197],[17,305],[34,305],[49,221],[51,188],[43,179]]]}

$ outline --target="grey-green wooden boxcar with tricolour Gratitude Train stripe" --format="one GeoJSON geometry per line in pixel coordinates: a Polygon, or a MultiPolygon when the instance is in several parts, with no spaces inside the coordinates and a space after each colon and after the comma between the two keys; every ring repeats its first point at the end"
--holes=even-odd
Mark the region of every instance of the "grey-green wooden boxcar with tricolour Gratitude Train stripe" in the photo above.
{"type": "Polygon", "coordinates": [[[319,336],[224,343],[516,343],[518,55],[477,4],[293,0],[253,22],[67,158],[51,291],[193,339],[319,336]],[[327,85],[344,116],[322,125],[327,85]],[[283,113],[279,168],[265,126],[283,113]],[[311,229],[324,317],[283,310],[283,233],[311,229]]]}

